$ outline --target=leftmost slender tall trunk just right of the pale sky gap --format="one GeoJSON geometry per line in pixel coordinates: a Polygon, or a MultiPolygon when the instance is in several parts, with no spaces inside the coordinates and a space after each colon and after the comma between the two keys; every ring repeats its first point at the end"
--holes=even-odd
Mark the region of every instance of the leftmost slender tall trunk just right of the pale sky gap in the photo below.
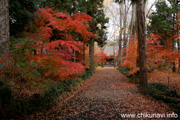
{"type": "Polygon", "coordinates": [[[119,12],[120,12],[120,20],[119,20],[119,24],[120,24],[120,28],[119,28],[119,50],[118,50],[118,69],[120,69],[120,65],[121,65],[121,43],[122,43],[122,11],[121,11],[121,5],[119,4],[119,12]]]}

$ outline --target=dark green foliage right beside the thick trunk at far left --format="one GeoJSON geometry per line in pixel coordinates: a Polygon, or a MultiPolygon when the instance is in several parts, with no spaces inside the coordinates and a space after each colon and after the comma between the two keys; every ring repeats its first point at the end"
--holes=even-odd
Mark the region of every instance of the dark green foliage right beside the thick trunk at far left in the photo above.
{"type": "Polygon", "coordinates": [[[10,0],[9,18],[11,36],[21,36],[24,27],[32,23],[39,0],[10,0]]]}

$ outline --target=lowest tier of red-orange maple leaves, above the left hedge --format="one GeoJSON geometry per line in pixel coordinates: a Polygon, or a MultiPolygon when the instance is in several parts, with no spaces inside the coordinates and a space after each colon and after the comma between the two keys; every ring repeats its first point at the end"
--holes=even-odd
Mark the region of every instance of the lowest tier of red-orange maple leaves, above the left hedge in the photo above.
{"type": "Polygon", "coordinates": [[[84,73],[85,68],[81,63],[65,61],[59,57],[42,57],[38,61],[39,70],[43,78],[54,81],[68,80],[84,73]]]}

